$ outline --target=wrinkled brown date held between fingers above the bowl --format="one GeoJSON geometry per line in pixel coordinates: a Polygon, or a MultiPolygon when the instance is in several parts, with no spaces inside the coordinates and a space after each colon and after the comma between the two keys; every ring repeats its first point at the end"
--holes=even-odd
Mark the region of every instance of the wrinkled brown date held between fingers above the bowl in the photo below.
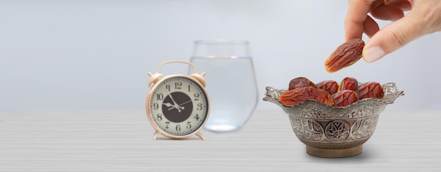
{"type": "Polygon", "coordinates": [[[334,73],[337,70],[351,66],[361,59],[363,48],[364,41],[360,38],[354,38],[344,42],[326,59],[326,71],[328,71],[328,73],[334,73]]]}

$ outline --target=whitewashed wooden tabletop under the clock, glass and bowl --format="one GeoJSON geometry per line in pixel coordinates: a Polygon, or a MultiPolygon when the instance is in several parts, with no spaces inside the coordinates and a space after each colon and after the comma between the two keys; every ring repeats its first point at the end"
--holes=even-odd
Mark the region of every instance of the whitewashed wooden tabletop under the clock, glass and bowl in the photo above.
{"type": "Polygon", "coordinates": [[[363,153],[306,154],[282,111],[235,133],[153,140],[144,111],[0,111],[0,171],[441,171],[441,111],[387,111],[363,153]]]}

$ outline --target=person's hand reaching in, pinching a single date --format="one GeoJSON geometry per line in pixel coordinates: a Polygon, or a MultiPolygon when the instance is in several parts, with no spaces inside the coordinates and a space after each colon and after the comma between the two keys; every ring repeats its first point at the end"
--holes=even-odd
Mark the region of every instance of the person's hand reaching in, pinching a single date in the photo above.
{"type": "Polygon", "coordinates": [[[439,0],[348,0],[348,5],[344,37],[346,41],[361,38],[363,33],[370,37],[363,49],[367,62],[377,61],[418,37],[441,31],[439,0]],[[380,30],[368,13],[393,22],[380,30]]]}

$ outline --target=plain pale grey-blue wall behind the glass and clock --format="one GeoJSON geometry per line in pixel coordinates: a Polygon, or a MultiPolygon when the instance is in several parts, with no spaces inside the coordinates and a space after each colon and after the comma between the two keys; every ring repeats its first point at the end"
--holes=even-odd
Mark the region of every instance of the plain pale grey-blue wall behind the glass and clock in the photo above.
{"type": "Polygon", "coordinates": [[[387,109],[441,109],[440,33],[326,73],[346,9],[343,0],[0,1],[0,110],[144,109],[147,72],[189,60],[196,39],[251,42],[257,109],[279,109],[261,101],[265,87],[298,76],[395,82],[406,95],[387,109]]]}

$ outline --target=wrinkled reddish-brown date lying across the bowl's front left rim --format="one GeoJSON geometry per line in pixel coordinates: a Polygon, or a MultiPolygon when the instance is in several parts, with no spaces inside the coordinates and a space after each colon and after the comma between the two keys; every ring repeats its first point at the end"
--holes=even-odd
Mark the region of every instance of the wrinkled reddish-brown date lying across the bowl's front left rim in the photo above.
{"type": "Polygon", "coordinates": [[[283,92],[280,94],[279,102],[285,106],[294,106],[306,99],[315,99],[330,106],[335,106],[335,100],[329,92],[315,87],[299,87],[283,92]]]}

